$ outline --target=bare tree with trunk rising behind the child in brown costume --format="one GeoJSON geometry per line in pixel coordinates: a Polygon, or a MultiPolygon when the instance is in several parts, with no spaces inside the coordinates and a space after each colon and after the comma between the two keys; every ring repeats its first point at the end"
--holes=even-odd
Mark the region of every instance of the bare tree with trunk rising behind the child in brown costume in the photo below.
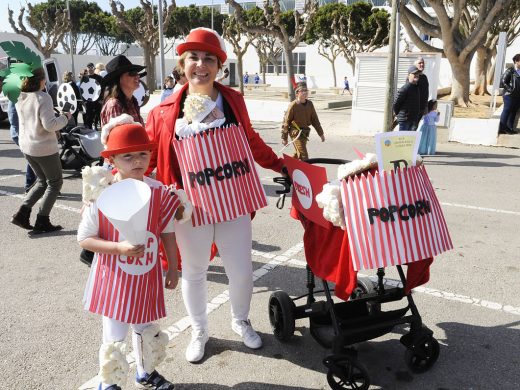
{"type": "Polygon", "coordinates": [[[312,18],[318,10],[318,2],[315,0],[305,0],[303,13],[293,11],[294,30],[286,23],[280,8],[279,0],[264,1],[264,17],[267,21],[266,26],[251,25],[244,17],[244,10],[235,0],[226,0],[226,3],[235,10],[235,17],[240,22],[241,27],[247,32],[255,35],[270,35],[277,38],[284,49],[285,65],[287,69],[287,87],[289,99],[295,99],[293,80],[294,64],[292,53],[298,44],[303,40],[311,27],[312,18]],[[292,31],[291,31],[292,30],[292,31]]]}

